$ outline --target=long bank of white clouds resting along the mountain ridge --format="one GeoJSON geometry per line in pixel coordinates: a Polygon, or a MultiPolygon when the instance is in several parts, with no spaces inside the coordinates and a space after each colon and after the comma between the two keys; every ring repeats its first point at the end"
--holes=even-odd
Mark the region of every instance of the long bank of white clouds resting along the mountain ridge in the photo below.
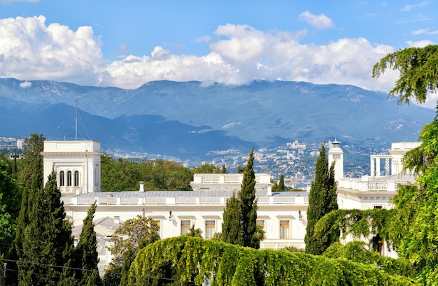
{"type": "Polygon", "coordinates": [[[306,31],[260,31],[226,24],[209,38],[210,52],[176,55],[157,46],[150,55],[122,56],[106,63],[91,27],[72,31],[45,24],[45,17],[0,20],[0,76],[60,80],[79,85],[134,89],[153,80],[199,80],[231,85],[252,80],[303,80],[351,84],[389,91],[397,74],[372,78],[372,66],[393,48],[365,38],[341,38],[326,45],[300,43],[306,31]],[[216,39],[216,40],[215,40],[216,39]]]}

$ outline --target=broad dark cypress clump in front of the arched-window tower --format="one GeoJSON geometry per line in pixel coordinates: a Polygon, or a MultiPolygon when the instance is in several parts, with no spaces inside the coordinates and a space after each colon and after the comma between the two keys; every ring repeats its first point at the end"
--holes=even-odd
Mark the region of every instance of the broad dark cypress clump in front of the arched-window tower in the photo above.
{"type": "Polygon", "coordinates": [[[66,222],[53,171],[43,189],[32,195],[18,261],[18,285],[74,285],[71,224],[66,222]]]}

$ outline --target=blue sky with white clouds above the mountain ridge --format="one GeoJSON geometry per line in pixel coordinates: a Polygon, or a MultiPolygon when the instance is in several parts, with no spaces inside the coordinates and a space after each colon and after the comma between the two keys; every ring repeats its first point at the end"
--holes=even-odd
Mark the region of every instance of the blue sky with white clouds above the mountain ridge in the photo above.
{"type": "Polygon", "coordinates": [[[372,78],[372,67],[438,43],[437,11],[433,0],[0,0],[0,77],[129,90],[153,80],[294,80],[389,92],[398,73],[372,78]]]}

